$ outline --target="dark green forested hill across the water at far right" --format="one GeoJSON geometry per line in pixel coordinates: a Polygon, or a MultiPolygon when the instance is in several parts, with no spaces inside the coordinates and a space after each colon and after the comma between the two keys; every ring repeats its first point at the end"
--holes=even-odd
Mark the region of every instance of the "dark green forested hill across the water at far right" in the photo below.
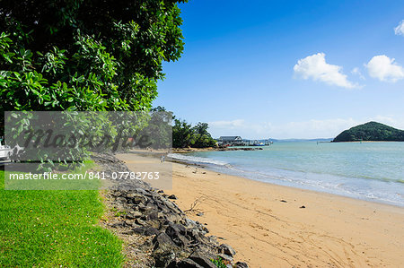
{"type": "Polygon", "coordinates": [[[369,122],[364,125],[356,125],[341,134],[332,141],[338,142],[356,142],[356,141],[386,141],[386,142],[404,142],[404,131],[396,129],[389,125],[383,125],[377,122],[369,122]]]}

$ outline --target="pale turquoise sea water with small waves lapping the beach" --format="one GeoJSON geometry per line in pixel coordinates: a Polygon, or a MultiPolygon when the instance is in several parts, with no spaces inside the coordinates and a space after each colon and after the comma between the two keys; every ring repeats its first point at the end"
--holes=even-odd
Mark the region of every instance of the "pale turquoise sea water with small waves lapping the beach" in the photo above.
{"type": "Polygon", "coordinates": [[[284,186],[404,206],[404,143],[274,143],[173,158],[284,186]]]}

